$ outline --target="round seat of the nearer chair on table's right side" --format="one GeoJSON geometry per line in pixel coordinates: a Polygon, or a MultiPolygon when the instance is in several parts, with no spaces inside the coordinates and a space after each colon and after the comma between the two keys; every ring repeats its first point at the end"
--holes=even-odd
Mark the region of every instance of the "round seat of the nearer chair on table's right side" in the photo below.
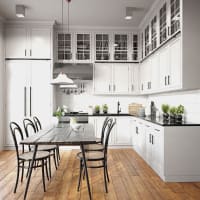
{"type": "MultiPolygon", "coordinates": [[[[82,152],[77,154],[79,159],[83,159],[82,152]]],[[[95,160],[103,160],[104,159],[104,152],[102,151],[89,151],[85,152],[85,159],[88,161],[95,161],[95,160]]]]}

